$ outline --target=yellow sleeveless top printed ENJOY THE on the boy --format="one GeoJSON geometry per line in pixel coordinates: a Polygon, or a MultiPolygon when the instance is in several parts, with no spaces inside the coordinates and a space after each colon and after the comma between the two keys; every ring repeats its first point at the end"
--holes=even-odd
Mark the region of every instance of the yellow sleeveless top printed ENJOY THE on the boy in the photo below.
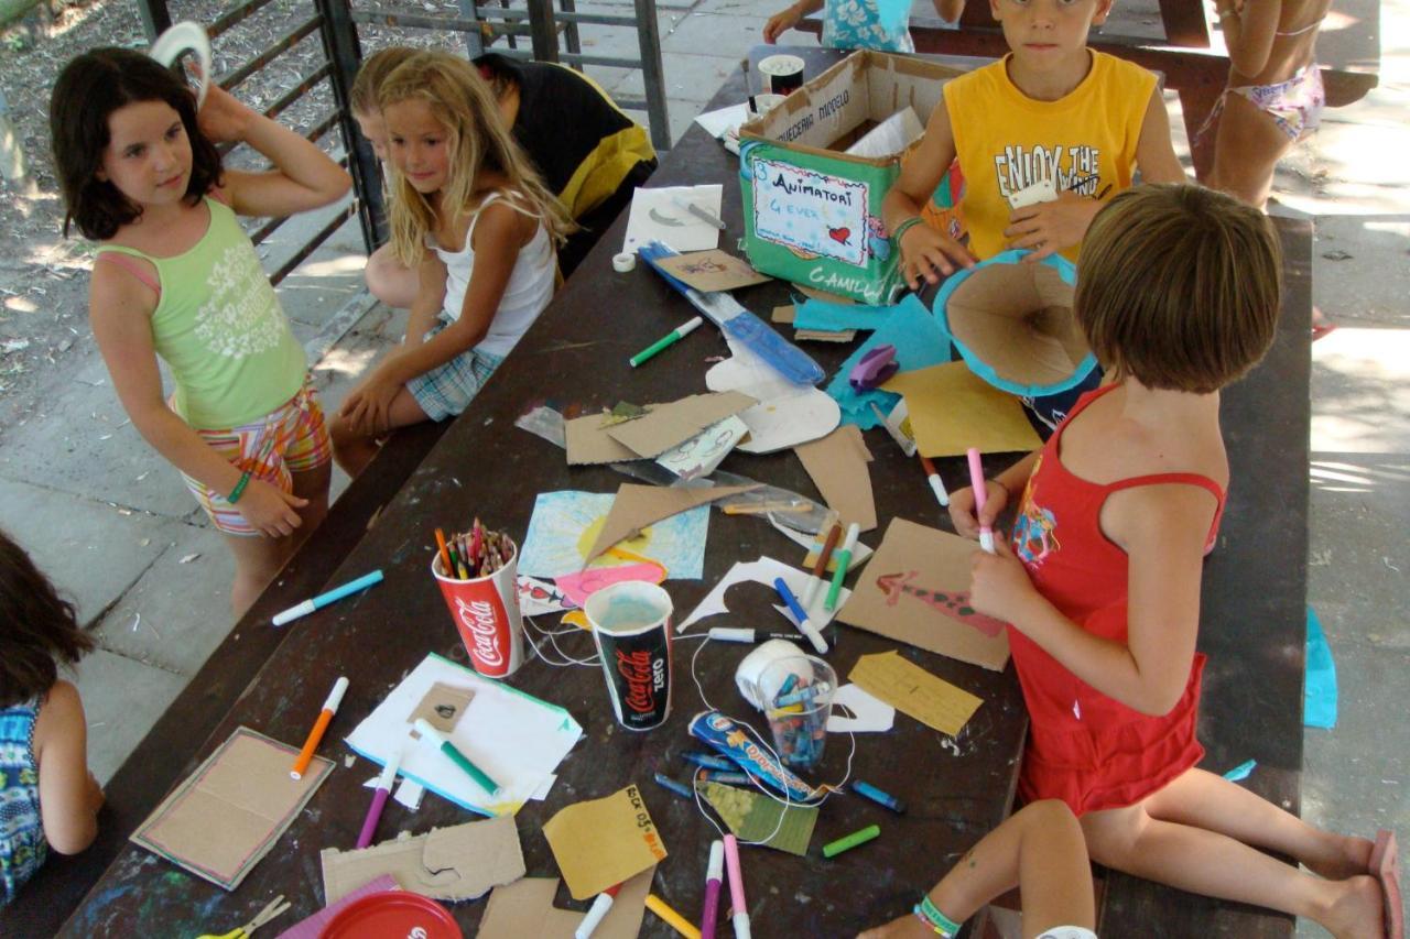
{"type": "MultiPolygon", "coordinates": [[[[1059,193],[1101,200],[1129,188],[1155,80],[1139,65],[1093,51],[1087,78],[1056,102],[1018,90],[1007,56],[948,83],[970,251],[983,261],[1008,247],[1008,197],[1028,186],[1050,182],[1059,193]]],[[[1076,261],[1079,247],[1063,257],[1076,261]]]]}

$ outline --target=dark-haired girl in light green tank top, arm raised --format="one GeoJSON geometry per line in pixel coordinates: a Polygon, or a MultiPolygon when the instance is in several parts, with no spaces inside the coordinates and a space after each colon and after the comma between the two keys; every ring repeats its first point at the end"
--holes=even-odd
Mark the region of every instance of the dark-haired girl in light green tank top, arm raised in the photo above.
{"type": "MultiPolygon", "coordinates": [[[[199,486],[227,534],[238,616],[293,551],[296,534],[323,519],[329,461],[295,467],[271,446],[275,434],[259,433],[292,400],[313,415],[317,405],[302,391],[303,350],[235,216],[316,209],[340,199],[351,180],[312,142],[217,85],[197,113],[175,73],[128,49],[70,61],[54,86],[49,128],[65,234],[76,223],[100,243],[89,292],[93,336],[133,424],[199,486]],[[223,171],[219,142],[247,144],[272,168],[223,171]],[[158,357],[172,372],[171,406],[158,357]],[[247,437],[258,454],[243,450],[247,437]]],[[[321,420],[310,426],[321,430],[321,420]]]]}

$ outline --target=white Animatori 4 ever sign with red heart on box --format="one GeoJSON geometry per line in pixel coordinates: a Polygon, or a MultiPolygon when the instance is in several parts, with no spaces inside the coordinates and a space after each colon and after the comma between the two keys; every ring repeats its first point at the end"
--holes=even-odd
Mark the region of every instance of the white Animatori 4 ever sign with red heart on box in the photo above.
{"type": "Polygon", "coordinates": [[[754,161],[754,234],[795,251],[867,262],[867,185],[754,161]]]}

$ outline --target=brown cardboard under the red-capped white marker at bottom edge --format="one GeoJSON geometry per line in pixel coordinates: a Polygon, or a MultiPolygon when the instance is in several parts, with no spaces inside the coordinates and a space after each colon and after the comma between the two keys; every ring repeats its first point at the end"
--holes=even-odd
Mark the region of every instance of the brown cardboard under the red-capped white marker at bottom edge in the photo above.
{"type": "MultiPolygon", "coordinates": [[[[622,884],[612,908],[592,931],[592,939],[636,939],[646,915],[646,894],[656,866],[622,884]]],[[[572,939],[584,912],[553,905],[557,877],[525,877],[489,894],[479,935],[485,939],[572,939]]]]}

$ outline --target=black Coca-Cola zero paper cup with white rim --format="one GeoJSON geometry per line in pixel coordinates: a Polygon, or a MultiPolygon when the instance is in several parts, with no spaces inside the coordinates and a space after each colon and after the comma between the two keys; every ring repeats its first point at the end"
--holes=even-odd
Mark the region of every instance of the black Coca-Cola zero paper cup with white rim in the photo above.
{"type": "Polygon", "coordinates": [[[618,723],[650,730],[671,715],[671,595],[656,584],[625,581],[588,596],[592,642],[618,723]]]}

